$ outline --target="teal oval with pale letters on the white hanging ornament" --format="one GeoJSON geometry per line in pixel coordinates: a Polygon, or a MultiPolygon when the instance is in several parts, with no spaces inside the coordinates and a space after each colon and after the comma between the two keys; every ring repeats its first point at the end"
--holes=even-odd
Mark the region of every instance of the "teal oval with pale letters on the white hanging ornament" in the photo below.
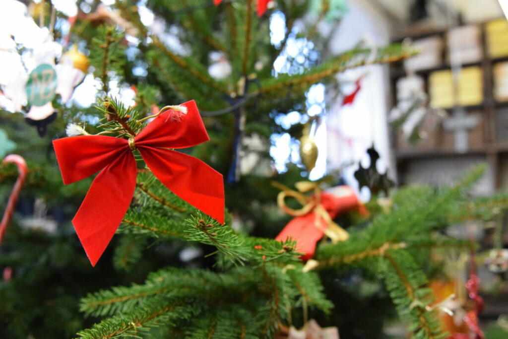
{"type": "Polygon", "coordinates": [[[30,73],[26,96],[31,106],[44,106],[55,97],[56,72],[51,65],[42,64],[30,73]]]}

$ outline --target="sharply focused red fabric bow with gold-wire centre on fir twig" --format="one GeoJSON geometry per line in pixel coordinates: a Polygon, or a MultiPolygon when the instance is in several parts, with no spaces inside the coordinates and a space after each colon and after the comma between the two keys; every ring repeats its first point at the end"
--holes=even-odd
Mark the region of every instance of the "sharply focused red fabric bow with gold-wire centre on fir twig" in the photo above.
{"type": "MultiPolygon", "coordinates": [[[[162,113],[134,138],[134,145],[164,186],[224,223],[222,175],[201,160],[168,149],[209,140],[196,103],[189,101],[182,106],[187,108],[186,114],[173,110],[162,113]]],[[[131,203],[136,188],[136,160],[126,139],[76,136],[54,140],[53,146],[64,184],[101,171],[72,221],[95,266],[131,203]]]]}

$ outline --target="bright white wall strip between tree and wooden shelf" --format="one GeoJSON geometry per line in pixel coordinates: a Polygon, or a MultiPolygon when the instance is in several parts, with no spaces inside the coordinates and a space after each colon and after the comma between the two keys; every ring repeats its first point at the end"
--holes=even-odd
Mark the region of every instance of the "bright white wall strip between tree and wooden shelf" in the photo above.
{"type": "MultiPolygon", "coordinates": [[[[376,46],[389,44],[390,22],[368,1],[350,1],[348,6],[350,11],[335,29],[328,46],[330,54],[340,54],[351,49],[365,37],[376,46]]],[[[362,161],[364,167],[368,166],[369,160],[365,151],[374,142],[380,155],[378,169],[385,170],[388,166],[390,177],[394,178],[387,125],[390,105],[388,66],[365,66],[347,71],[338,77],[342,81],[349,80],[352,83],[362,74],[366,76],[353,105],[342,107],[339,98],[328,109],[328,169],[337,169],[347,163],[358,161],[362,161]]],[[[344,91],[352,89],[344,88],[344,91]]],[[[353,178],[353,173],[357,168],[357,165],[349,166],[343,172],[347,183],[355,189],[358,189],[358,184],[353,178]]],[[[362,198],[367,197],[368,193],[362,194],[362,198]]]]}

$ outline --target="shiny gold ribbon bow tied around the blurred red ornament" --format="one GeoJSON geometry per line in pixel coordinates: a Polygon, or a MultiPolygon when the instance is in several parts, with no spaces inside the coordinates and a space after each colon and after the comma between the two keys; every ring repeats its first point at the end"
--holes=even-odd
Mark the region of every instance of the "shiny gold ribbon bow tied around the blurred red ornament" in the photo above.
{"type": "Polygon", "coordinates": [[[293,217],[301,217],[302,215],[314,212],[316,214],[314,226],[322,229],[319,218],[323,219],[327,226],[325,229],[322,229],[322,231],[325,232],[325,234],[332,240],[333,243],[344,241],[349,238],[349,233],[347,233],[346,230],[333,222],[332,218],[330,218],[330,214],[328,214],[325,207],[321,204],[321,188],[319,187],[319,184],[310,181],[298,181],[295,184],[295,187],[298,191],[291,190],[290,188],[283,186],[278,182],[273,183],[273,185],[277,188],[282,189],[282,191],[280,191],[277,195],[277,205],[284,212],[288,213],[289,215],[293,215],[293,217]],[[312,190],[314,191],[312,196],[306,196],[303,194],[312,190]],[[289,207],[285,203],[286,197],[295,198],[302,205],[302,207],[298,209],[289,207]]]}

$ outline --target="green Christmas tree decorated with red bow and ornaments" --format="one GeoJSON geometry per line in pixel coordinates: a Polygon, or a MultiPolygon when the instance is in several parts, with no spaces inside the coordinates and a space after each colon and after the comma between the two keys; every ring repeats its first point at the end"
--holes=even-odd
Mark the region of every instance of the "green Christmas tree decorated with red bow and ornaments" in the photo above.
{"type": "MultiPolygon", "coordinates": [[[[304,164],[284,173],[261,168],[266,150],[258,152],[257,168],[242,170],[248,138],[268,145],[273,133],[288,131],[304,145],[306,128],[319,119],[305,111],[312,85],[333,87],[337,73],[416,53],[404,44],[360,44],[325,57],[317,25],[337,20],[341,2],[267,3],[79,1],[76,17],[49,2],[33,6],[51,39],[69,50],[68,41],[79,46],[67,55],[74,68],[89,61],[83,73],[90,71],[99,88],[89,107],[69,102],[63,90],[47,103],[28,96],[14,107],[27,113],[52,105],[54,122],[51,115],[37,119],[45,121],[42,138],[21,114],[0,115],[31,169],[24,199],[44,197],[60,209],[62,223],[50,235],[20,227],[20,218],[10,226],[0,267],[14,273],[0,283],[9,301],[0,306],[0,334],[58,337],[86,327],[79,337],[291,337],[302,327],[319,333],[316,319],[342,337],[376,338],[386,337],[383,327],[398,316],[411,337],[448,336],[441,300],[429,288],[444,271],[435,254],[473,250],[472,241],[445,230],[457,221],[490,220],[506,196],[467,194],[483,173],[478,167],[456,186],[405,187],[382,204],[376,194],[389,180],[364,170],[359,175],[373,197],[363,206],[354,194],[344,200],[344,191],[323,191],[336,186],[334,175],[308,180],[312,144],[308,154],[302,150],[304,164]],[[273,13],[284,22],[275,43],[273,13]],[[290,54],[288,44],[302,51],[290,54]],[[275,70],[280,58],[284,69],[275,70]],[[129,89],[130,104],[118,95],[129,89]],[[308,122],[288,129],[276,123],[293,111],[308,122]],[[43,248],[34,248],[41,237],[43,248]],[[63,287],[66,279],[77,291],[63,287]],[[23,295],[37,284],[52,296],[39,289],[23,295]]],[[[13,48],[22,54],[27,47],[13,48]]],[[[53,55],[50,66],[63,65],[64,54],[53,55]]],[[[71,94],[76,85],[68,86],[71,94]]],[[[3,183],[15,176],[13,167],[0,171],[3,183]]],[[[7,201],[7,185],[0,192],[7,201]]]]}

